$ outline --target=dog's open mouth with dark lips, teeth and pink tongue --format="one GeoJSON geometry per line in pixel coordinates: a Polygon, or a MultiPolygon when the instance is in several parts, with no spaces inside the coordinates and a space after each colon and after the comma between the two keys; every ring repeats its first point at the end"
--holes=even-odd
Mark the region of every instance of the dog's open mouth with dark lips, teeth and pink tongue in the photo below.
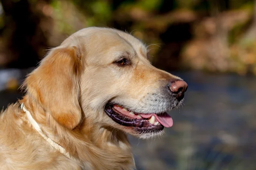
{"type": "Polygon", "coordinates": [[[172,127],[171,116],[164,113],[135,113],[121,105],[107,104],[107,115],[119,125],[134,127],[138,132],[152,132],[163,130],[164,127],[172,127]]]}

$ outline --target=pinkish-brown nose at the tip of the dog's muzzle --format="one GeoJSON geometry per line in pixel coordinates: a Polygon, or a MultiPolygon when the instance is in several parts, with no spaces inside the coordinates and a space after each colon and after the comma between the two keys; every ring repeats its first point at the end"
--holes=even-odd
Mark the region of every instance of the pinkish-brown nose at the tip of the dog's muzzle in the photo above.
{"type": "Polygon", "coordinates": [[[175,97],[180,101],[184,97],[184,93],[188,88],[188,84],[183,80],[175,80],[171,81],[168,85],[169,90],[175,97]]]}

